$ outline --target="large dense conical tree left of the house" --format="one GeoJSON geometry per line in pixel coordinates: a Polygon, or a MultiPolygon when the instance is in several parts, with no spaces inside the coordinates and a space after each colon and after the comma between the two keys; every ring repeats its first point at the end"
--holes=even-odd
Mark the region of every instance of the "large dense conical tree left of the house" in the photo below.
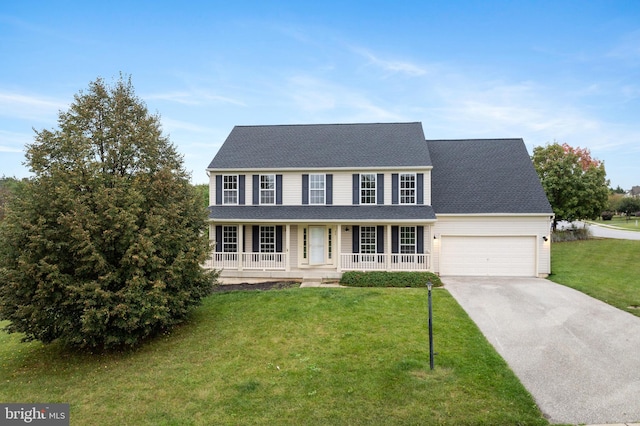
{"type": "Polygon", "coordinates": [[[211,289],[206,212],[130,78],[102,79],[27,146],[0,227],[0,319],[28,340],[133,346],[211,289]]]}

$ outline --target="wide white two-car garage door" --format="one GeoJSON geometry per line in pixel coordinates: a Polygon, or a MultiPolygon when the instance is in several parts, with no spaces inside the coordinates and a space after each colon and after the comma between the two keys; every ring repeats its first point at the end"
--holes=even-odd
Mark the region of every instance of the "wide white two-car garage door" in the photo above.
{"type": "Polygon", "coordinates": [[[534,277],[536,238],[443,236],[440,274],[534,277]]]}

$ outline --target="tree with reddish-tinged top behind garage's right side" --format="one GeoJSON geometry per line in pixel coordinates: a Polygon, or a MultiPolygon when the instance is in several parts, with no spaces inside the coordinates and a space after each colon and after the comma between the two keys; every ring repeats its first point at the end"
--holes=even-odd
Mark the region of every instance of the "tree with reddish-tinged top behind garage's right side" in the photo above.
{"type": "Polygon", "coordinates": [[[547,144],[533,149],[533,165],[551,203],[555,219],[596,219],[607,208],[609,182],[604,163],[586,148],[547,144]]]}

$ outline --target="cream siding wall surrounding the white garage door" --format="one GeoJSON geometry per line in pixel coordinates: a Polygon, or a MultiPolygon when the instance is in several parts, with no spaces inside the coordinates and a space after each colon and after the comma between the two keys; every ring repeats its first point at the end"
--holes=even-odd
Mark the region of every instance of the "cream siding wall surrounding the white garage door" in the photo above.
{"type": "MultiPolygon", "coordinates": [[[[446,216],[439,215],[433,233],[433,269],[441,273],[442,241],[447,236],[511,236],[531,237],[535,241],[536,275],[551,272],[551,243],[549,237],[551,220],[549,216],[446,216]]],[[[446,240],[445,240],[446,244],[446,240]]],[[[445,271],[447,272],[447,271],[445,271]]]]}

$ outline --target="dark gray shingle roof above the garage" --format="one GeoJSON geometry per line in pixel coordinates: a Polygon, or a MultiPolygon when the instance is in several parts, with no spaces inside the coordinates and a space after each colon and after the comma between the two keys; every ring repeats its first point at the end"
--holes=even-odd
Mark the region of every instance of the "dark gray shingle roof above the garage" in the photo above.
{"type": "Polygon", "coordinates": [[[428,140],[427,145],[436,214],[552,214],[522,139],[428,140]]]}

